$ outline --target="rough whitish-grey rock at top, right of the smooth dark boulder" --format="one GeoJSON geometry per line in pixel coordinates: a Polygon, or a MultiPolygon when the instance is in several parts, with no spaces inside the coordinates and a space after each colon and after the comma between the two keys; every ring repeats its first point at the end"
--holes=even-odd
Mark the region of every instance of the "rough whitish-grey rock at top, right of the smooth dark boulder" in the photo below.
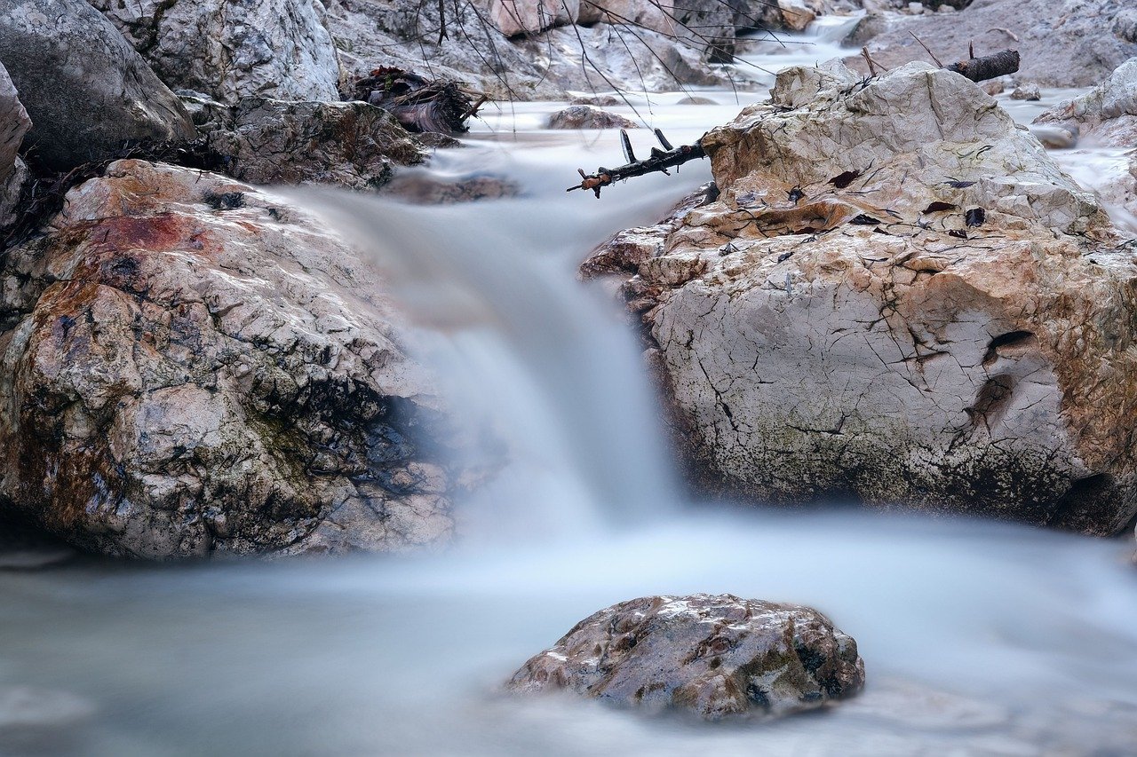
{"type": "Polygon", "coordinates": [[[91,0],[172,88],[339,100],[332,38],[312,0],[91,0]]]}

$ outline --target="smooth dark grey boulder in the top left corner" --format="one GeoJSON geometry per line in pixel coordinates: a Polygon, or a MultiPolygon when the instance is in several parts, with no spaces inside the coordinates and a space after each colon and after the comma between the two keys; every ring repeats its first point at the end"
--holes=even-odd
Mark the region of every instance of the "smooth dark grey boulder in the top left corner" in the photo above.
{"type": "Polygon", "coordinates": [[[0,64],[32,118],[24,150],[48,168],[196,135],[177,98],[83,0],[0,0],[0,64]]]}

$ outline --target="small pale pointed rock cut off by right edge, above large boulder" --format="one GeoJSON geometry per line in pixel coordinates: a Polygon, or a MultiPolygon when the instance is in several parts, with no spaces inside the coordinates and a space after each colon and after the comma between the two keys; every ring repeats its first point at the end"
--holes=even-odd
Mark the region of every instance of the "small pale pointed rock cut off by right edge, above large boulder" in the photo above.
{"type": "Polygon", "coordinates": [[[1106,147],[1137,145],[1137,57],[1093,90],[1043,113],[1036,124],[1074,130],[1106,147]]]}

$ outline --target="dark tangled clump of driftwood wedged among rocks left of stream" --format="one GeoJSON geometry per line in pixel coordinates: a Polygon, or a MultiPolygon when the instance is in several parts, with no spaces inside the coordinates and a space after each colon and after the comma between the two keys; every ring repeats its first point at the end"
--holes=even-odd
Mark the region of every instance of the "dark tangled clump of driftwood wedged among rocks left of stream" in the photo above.
{"type": "Polygon", "coordinates": [[[466,119],[476,115],[487,100],[481,94],[474,101],[478,93],[460,82],[429,80],[393,67],[376,68],[357,80],[354,94],[389,111],[412,132],[465,132],[466,119]]]}

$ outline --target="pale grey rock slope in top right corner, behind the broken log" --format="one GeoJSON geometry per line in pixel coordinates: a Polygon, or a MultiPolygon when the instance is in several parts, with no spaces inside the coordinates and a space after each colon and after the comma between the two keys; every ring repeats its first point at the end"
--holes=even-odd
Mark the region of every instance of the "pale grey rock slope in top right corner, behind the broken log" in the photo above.
{"type": "MultiPolygon", "coordinates": [[[[960,13],[894,24],[869,43],[869,52],[889,68],[928,61],[912,34],[945,64],[966,58],[969,42],[979,56],[1013,48],[1022,59],[1020,78],[1043,86],[1093,86],[1137,56],[1137,38],[1129,34],[1127,20],[1134,11],[1127,5],[1118,0],[976,0],[960,13]]],[[[846,63],[868,70],[858,57],[846,63]]]]}

